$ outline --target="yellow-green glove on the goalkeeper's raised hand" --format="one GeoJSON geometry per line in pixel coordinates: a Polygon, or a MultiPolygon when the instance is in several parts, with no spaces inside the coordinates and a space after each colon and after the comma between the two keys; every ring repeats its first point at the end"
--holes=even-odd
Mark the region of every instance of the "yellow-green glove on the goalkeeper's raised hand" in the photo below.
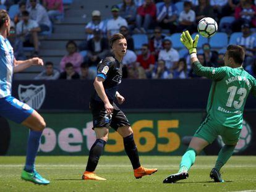
{"type": "Polygon", "coordinates": [[[193,40],[189,34],[189,31],[183,31],[181,34],[181,43],[189,49],[189,54],[197,53],[197,43],[198,43],[199,35],[195,36],[193,40]]]}

